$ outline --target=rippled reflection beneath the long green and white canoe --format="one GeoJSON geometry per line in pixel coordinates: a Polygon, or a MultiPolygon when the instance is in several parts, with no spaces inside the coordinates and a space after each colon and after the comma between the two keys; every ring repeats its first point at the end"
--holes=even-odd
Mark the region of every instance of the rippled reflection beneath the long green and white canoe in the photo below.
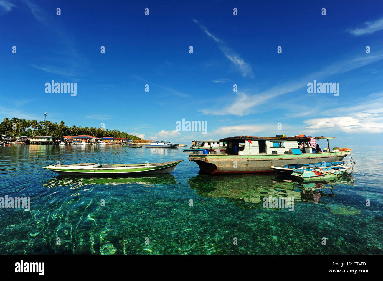
{"type": "Polygon", "coordinates": [[[43,182],[43,186],[47,188],[54,187],[70,187],[76,189],[79,187],[90,188],[92,185],[126,185],[140,184],[155,187],[158,184],[170,185],[177,184],[172,174],[148,175],[144,177],[116,177],[116,178],[89,178],[89,177],[67,177],[59,175],[43,182]]]}

